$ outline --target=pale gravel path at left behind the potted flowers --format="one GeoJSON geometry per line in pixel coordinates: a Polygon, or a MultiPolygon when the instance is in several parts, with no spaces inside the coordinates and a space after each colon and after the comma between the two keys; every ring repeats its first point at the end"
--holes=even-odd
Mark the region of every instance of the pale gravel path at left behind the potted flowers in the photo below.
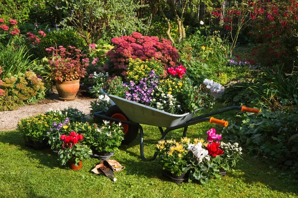
{"type": "Polygon", "coordinates": [[[0,131],[15,130],[21,118],[32,116],[37,113],[45,113],[49,109],[64,109],[69,106],[88,115],[90,112],[90,101],[95,99],[76,99],[74,101],[60,101],[48,104],[22,106],[13,111],[0,111],[0,131]]]}

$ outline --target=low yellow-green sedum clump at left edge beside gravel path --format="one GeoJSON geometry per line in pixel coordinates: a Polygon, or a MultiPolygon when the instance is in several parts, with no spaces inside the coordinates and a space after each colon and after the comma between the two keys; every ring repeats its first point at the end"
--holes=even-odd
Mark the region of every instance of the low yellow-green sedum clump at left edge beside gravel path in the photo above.
{"type": "Polygon", "coordinates": [[[0,111],[11,110],[24,102],[35,103],[44,99],[45,87],[41,79],[31,72],[26,72],[20,77],[4,78],[0,88],[5,91],[0,97],[0,111]]]}

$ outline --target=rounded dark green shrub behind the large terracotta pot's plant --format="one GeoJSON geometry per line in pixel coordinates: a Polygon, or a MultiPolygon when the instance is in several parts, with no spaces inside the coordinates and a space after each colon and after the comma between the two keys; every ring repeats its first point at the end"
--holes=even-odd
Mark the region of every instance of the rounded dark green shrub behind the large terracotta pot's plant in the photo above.
{"type": "Polygon", "coordinates": [[[84,49],[85,43],[73,30],[59,29],[51,31],[39,44],[39,57],[43,58],[49,55],[46,48],[55,47],[59,49],[59,46],[64,46],[67,49],[69,49],[69,46],[84,49]]]}

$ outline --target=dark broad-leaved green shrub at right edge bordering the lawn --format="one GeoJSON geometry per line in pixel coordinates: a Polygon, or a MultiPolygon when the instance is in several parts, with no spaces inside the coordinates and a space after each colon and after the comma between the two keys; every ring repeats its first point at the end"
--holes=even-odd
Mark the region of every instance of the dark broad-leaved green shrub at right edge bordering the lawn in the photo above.
{"type": "Polygon", "coordinates": [[[297,161],[293,156],[298,155],[294,141],[298,136],[297,120],[297,110],[289,113],[279,110],[264,110],[259,114],[239,113],[228,120],[230,125],[222,133],[268,162],[292,165],[297,161]]]}

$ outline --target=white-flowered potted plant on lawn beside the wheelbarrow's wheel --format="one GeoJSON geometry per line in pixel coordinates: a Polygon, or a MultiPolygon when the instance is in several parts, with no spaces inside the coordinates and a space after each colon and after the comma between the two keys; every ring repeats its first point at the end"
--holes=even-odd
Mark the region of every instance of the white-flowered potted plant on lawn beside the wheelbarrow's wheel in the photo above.
{"type": "Polygon", "coordinates": [[[121,145],[124,135],[121,123],[115,124],[104,120],[103,125],[96,129],[93,136],[94,154],[100,159],[109,159],[121,145]]]}

